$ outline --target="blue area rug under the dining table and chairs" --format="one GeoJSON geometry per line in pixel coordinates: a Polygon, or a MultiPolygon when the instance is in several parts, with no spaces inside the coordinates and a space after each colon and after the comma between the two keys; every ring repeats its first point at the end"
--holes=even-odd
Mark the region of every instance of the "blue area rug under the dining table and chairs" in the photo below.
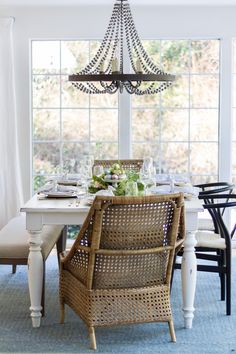
{"type": "MultiPolygon", "coordinates": [[[[233,261],[236,266],[236,259],[233,261]]],[[[47,261],[46,317],[32,328],[26,266],[11,274],[1,265],[0,353],[93,353],[87,328],[66,308],[66,323],[59,323],[58,267],[55,256],[47,261]]],[[[234,272],[234,271],[233,271],[234,272]]],[[[236,281],[233,273],[232,315],[219,301],[217,274],[198,272],[193,328],[184,328],[180,271],[175,272],[172,308],[177,343],[170,342],[167,324],[151,323],[96,329],[97,353],[236,353],[236,281]]]]}

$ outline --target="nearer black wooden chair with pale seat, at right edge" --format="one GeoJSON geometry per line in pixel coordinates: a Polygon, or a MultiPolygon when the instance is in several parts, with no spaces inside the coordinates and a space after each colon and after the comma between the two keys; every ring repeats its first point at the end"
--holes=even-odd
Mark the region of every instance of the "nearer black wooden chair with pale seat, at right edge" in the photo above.
{"type": "MultiPolygon", "coordinates": [[[[204,200],[204,209],[208,210],[215,230],[199,230],[196,233],[197,244],[195,254],[198,271],[213,272],[220,275],[221,300],[226,296],[226,314],[231,314],[231,233],[223,219],[225,209],[236,207],[236,194],[204,194],[199,196],[204,200]],[[206,261],[206,262],[204,262],[206,261]],[[212,264],[212,262],[216,262],[212,264]]],[[[182,255],[180,251],[178,256],[182,255]]],[[[175,268],[180,268],[176,263],[175,268]]]]}

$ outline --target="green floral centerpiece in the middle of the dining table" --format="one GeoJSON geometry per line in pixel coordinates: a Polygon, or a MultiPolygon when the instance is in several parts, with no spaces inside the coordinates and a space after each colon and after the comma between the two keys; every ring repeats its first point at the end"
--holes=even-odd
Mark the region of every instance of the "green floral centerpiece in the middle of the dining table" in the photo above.
{"type": "Polygon", "coordinates": [[[139,174],[135,171],[125,171],[118,162],[106,169],[101,176],[93,176],[88,191],[94,194],[112,186],[114,195],[122,196],[126,194],[126,186],[129,182],[137,183],[138,195],[144,194],[145,187],[140,181],[139,174]]]}

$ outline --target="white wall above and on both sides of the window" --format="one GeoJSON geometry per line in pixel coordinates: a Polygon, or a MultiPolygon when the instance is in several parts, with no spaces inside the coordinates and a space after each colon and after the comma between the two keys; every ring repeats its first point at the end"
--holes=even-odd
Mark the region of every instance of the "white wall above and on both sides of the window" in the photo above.
{"type": "MultiPolygon", "coordinates": [[[[14,16],[15,68],[20,156],[24,197],[30,196],[29,40],[102,38],[111,6],[0,7],[0,16],[14,16]]],[[[236,37],[236,7],[134,7],[140,38],[222,39],[220,178],[230,178],[231,40],[236,37]],[[225,158],[226,157],[226,158],[225,158]]]]}

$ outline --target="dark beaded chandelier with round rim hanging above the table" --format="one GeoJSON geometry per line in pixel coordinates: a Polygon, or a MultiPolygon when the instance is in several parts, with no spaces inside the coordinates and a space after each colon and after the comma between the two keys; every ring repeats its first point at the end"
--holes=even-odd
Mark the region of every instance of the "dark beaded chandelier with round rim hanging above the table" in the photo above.
{"type": "Polygon", "coordinates": [[[89,94],[120,93],[155,94],[175,80],[160,70],[148,57],[138,37],[128,0],[116,0],[103,41],[91,62],[69,81],[89,94]],[[132,73],[124,73],[124,53],[132,73]]]}

